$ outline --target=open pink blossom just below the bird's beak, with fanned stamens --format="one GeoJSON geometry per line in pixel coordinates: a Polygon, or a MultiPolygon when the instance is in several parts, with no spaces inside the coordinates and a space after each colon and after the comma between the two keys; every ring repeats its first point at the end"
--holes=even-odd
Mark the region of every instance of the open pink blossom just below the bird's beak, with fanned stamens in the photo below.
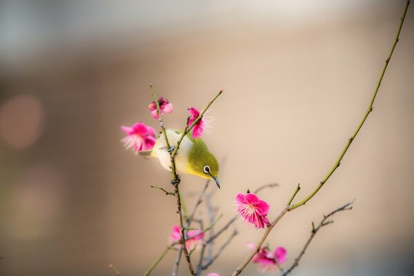
{"type": "Polygon", "coordinates": [[[266,217],[270,208],[266,201],[259,199],[257,195],[253,193],[247,193],[243,195],[238,193],[236,196],[237,212],[240,217],[253,224],[255,228],[264,228],[269,226],[269,220],[266,217]]]}

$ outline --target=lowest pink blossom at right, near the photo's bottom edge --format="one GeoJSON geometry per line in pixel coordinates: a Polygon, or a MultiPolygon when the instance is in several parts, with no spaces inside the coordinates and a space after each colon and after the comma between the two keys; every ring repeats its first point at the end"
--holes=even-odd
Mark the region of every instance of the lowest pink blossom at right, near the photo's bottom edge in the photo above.
{"type": "MultiPolygon", "coordinates": [[[[250,249],[256,247],[255,244],[248,243],[247,245],[250,249]]],[[[268,246],[261,247],[259,252],[253,256],[253,263],[258,263],[259,266],[257,270],[262,273],[276,273],[279,267],[277,264],[281,265],[286,262],[286,249],[282,246],[279,246],[272,253],[268,246]]]]}

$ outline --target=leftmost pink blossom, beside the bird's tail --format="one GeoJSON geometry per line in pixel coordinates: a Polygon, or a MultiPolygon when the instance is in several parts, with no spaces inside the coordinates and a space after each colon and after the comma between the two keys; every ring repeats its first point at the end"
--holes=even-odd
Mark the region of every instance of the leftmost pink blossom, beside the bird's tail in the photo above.
{"type": "Polygon", "coordinates": [[[133,148],[135,154],[142,150],[151,150],[155,145],[155,129],[138,122],[132,126],[121,126],[127,136],[121,139],[126,149],[133,148]]]}

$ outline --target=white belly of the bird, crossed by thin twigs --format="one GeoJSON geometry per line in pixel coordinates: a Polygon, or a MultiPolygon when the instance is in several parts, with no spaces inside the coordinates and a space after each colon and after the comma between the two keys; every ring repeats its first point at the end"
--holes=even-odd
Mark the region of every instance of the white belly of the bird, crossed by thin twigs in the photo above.
{"type": "MultiPolygon", "coordinates": [[[[167,129],[166,133],[170,146],[177,146],[177,141],[179,140],[179,137],[181,137],[181,134],[177,134],[177,132],[170,129],[167,129]]],[[[193,142],[190,141],[190,139],[188,139],[187,136],[184,137],[179,146],[179,150],[177,151],[177,155],[175,155],[175,166],[177,168],[177,172],[186,173],[188,152],[190,151],[192,146],[193,142]]],[[[164,139],[164,135],[161,135],[161,137],[159,137],[159,139],[157,140],[157,144],[155,144],[152,155],[159,159],[159,163],[166,170],[171,170],[170,154],[167,152],[166,140],[164,139]]]]}

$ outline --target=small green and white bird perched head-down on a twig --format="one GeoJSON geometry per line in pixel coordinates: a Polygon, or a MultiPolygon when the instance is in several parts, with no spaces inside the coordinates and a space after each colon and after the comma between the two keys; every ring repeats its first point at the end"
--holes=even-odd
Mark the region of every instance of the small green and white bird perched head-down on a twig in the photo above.
{"type": "MultiPolygon", "coordinates": [[[[156,157],[159,163],[166,170],[171,171],[171,161],[169,150],[174,149],[177,145],[183,130],[174,130],[167,128],[166,135],[168,143],[172,148],[168,149],[164,135],[155,142],[152,150],[139,152],[141,155],[150,155],[156,157]]],[[[219,162],[213,153],[208,150],[206,144],[201,138],[194,138],[191,132],[188,132],[181,141],[177,155],[175,155],[175,166],[177,172],[187,175],[195,175],[204,179],[213,179],[217,187],[219,184],[219,162]]]]}

